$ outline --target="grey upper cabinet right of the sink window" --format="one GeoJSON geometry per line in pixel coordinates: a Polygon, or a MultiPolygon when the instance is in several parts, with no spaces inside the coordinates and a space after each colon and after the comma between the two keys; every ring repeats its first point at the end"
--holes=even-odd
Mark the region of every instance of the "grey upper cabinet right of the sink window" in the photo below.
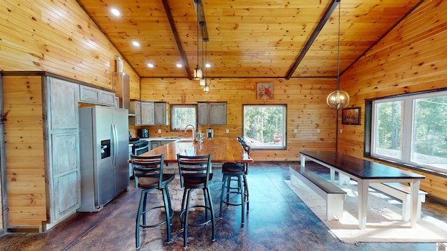
{"type": "Polygon", "coordinates": [[[226,125],[226,102],[198,102],[198,124],[226,125]]]}

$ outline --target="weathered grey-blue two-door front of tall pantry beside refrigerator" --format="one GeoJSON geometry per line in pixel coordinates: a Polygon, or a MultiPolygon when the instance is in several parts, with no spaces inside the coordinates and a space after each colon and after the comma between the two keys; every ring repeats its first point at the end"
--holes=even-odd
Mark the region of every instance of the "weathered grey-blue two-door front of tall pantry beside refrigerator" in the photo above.
{"type": "Polygon", "coordinates": [[[53,77],[45,79],[47,229],[74,213],[81,200],[78,84],[53,77]]]}

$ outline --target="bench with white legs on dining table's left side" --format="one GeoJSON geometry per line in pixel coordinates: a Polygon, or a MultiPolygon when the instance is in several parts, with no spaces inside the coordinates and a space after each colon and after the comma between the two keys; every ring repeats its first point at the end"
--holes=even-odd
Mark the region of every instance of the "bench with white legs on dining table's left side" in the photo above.
{"type": "Polygon", "coordinates": [[[301,169],[300,166],[289,165],[288,170],[291,173],[291,185],[296,183],[298,178],[325,199],[327,220],[332,220],[334,216],[337,216],[339,220],[343,219],[343,201],[346,197],[344,190],[326,181],[318,174],[314,174],[307,169],[301,169]]]}

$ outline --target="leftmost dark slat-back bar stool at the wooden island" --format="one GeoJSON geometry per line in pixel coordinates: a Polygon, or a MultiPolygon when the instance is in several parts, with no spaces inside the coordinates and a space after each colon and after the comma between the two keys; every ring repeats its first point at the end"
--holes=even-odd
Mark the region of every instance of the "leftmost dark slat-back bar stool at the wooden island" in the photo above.
{"type": "Polygon", "coordinates": [[[172,225],[174,211],[170,202],[168,184],[174,180],[175,174],[163,174],[163,160],[163,154],[154,156],[131,155],[133,174],[135,175],[135,180],[138,178],[138,188],[142,189],[135,225],[135,245],[137,250],[140,248],[140,227],[144,231],[148,227],[159,227],[166,224],[167,240],[170,243],[170,226],[172,225]],[[146,208],[147,193],[153,189],[161,191],[163,206],[146,208]],[[166,220],[154,225],[147,225],[146,213],[156,208],[164,208],[166,220]]]}

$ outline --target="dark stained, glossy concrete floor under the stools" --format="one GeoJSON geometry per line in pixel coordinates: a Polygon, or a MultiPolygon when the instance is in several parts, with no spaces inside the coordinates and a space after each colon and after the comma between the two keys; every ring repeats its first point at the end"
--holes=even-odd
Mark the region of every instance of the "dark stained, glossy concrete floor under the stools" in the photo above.
{"type": "MultiPolygon", "coordinates": [[[[318,170],[318,169],[316,169],[318,170]]],[[[319,169],[322,174],[325,168],[319,169]]],[[[250,211],[241,227],[240,207],[224,208],[219,219],[221,172],[213,169],[211,183],[216,240],[211,241],[211,225],[189,227],[186,250],[436,250],[436,243],[340,242],[316,215],[284,183],[290,179],[286,162],[256,162],[250,166],[248,183],[250,211]]],[[[182,190],[171,188],[173,203],[182,190]]],[[[151,200],[156,201],[156,195],[151,200]]],[[[4,234],[0,250],[135,250],[135,215],[140,190],[133,180],[129,190],[104,206],[98,213],[75,213],[43,234],[4,234]]],[[[447,222],[446,206],[431,201],[423,204],[423,214],[447,222]]],[[[166,243],[166,225],[141,231],[140,250],[185,250],[175,211],[172,242],[166,243]]]]}

